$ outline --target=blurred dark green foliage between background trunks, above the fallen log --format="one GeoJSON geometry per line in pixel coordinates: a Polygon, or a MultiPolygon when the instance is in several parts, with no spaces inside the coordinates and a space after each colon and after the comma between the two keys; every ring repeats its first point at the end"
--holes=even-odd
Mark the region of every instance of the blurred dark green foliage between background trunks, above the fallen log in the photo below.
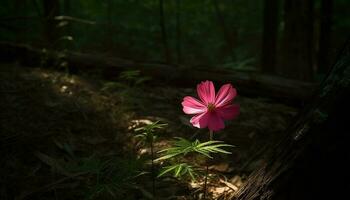
{"type": "MultiPolygon", "coordinates": [[[[163,60],[158,0],[60,0],[59,4],[60,15],[55,17],[57,33],[73,37],[76,50],[105,52],[107,47],[117,57],[163,60]]],[[[226,26],[236,42],[235,48],[247,49],[249,57],[255,56],[258,49],[259,41],[255,38],[261,33],[261,5],[261,2],[252,0],[219,2],[226,26]]],[[[0,39],[34,44],[42,42],[43,13],[42,1],[18,3],[4,0],[1,16],[24,18],[4,20],[0,39]]],[[[223,63],[235,57],[225,49],[227,44],[222,27],[218,25],[220,22],[213,1],[181,1],[180,41],[176,36],[176,13],[176,1],[164,1],[165,28],[173,58],[176,57],[178,42],[181,43],[182,59],[189,64],[223,63]]]]}

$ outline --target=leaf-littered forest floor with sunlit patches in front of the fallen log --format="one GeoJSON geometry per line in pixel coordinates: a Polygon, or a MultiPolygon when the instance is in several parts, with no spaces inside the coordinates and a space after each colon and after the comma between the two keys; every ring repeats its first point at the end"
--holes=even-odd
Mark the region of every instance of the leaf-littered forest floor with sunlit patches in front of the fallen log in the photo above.
{"type": "MultiPolygon", "coordinates": [[[[174,137],[208,137],[182,112],[182,98],[196,96],[194,85],[108,82],[18,64],[0,64],[0,70],[0,199],[151,199],[150,175],[140,173],[149,171],[150,150],[138,143],[134,129],[167,123],[157,151],[174,137]]],[[[209,162],[213,199],[234,196],[298,111],[268,98],[238,96],[235,102],[239,117],[214,134],[236,147],[209,162]]],[[[206,163],[198,165],[204,169],[206,163]]],[[[198,199],[202,184],[163,177],[156,180],[156,195],[198,199]]]]}

